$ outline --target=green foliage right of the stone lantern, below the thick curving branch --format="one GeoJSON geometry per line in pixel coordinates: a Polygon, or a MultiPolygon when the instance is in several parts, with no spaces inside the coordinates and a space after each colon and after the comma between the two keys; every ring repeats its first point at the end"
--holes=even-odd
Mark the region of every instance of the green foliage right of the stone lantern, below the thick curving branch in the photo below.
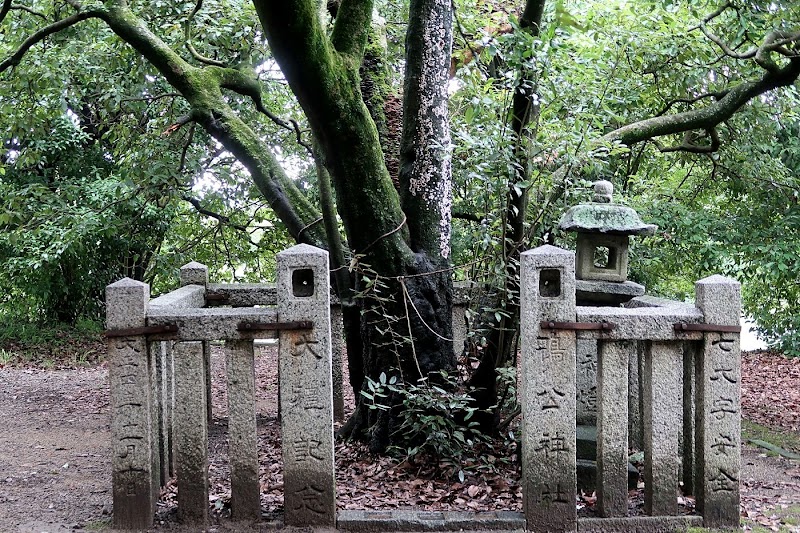
{"type": "Polygon", "coordinates": [[[659,225],[655,237],[634,247],[634,277],[679,299],[693,296],[694,280],[734,277],[742,282],[745,315],[770,346],[792,356],[800,355],[797,95],[793,89],[776,100],[776,115],[737,115],[730,128],[749,132],[749,142],[723,145],[706,160],[680,158],[666,171],[642,167],[631,180],[635,207],[659,225]],[[650,172],[661,182],[644,185],[650,172]]]}

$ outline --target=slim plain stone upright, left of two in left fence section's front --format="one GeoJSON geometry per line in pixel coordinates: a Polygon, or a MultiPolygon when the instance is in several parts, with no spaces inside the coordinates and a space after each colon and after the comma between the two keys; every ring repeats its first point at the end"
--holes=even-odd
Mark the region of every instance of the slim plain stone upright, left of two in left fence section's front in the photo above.
{"type": "Polygon", "coordinates": [[[208,522],[208,400],[203,343],[177,342],[173,352],[178,518],[185,524],[204,525],[208,522]]]}

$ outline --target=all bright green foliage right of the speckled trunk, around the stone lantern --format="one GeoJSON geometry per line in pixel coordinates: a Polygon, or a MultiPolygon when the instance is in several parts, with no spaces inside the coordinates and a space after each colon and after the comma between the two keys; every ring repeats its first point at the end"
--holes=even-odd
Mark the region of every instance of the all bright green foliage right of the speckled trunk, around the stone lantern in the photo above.
{"type": "MultiPolygon", "coordinates": [[[[634,239],[635,281],[650,293],[687,299],[695,280],[732,276],[742,281],[745,313],[765,339],[800,355],[797,88],[769,93],[739,110],[718,128],[721,149],[714,154],[659,150],[681,144],[682,135],[631,150],[604,145],[601,137],[619,126],[702,107],[711,100],[692,104],[687,98],[753,79],[763,69],[725,56],[697,29],[711,6],[648,0],[548,4],[538,38],[499,31],[508,15],[488,6],[473,11],[465,5],[459,16],[457,48],[480,52],[459,69],[461,86],[451,101],[455,211],[480,220],[454,223],[455,263],[468,265],[459,272],[482,287],[503,290],[506,184],[517,169],[506,112],[514,87],[529,83],[538,95],[538,120],[527,146],[529,179],[516,184],[531,195],[527,247],[555,237],[557,245],[570,248],[571,236],[556,230],[561,213],[589,199],[590,181],[610,179],[616,201],[660,227],[653,238],[634,239]],[[526,71],[528,79],[519,79],[526,71]]],[[[744,50],[772,29],[798,23],[797,3],[776,2],[768,9],[754,4],[728,10],[709,23],[709,31],[744,50]]],[[[702,132],[695,140],[709,142],[702,132]]],[[[476,314],[496,314],[500,323],[503,308],[474,301],[476,314]]]]}

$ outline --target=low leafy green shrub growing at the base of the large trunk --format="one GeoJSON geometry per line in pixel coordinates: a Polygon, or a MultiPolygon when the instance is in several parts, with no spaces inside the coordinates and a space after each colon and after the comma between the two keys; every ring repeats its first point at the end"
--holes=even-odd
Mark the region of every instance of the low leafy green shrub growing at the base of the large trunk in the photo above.
{"type": "Polygon", "coordinates": [[[433,462],[463,476],[464,460],[474,457],[479,445],[492,442],[473,420],[478,408],[471,392],[442,371],[416,383],[381,373],[377,381],[367,378],[367,390],[361,395],[370,409],[377,410],[391,409],[390,396],[399,398],[397,438],[389,449],[391,454],[408,461],[433,462]]]}

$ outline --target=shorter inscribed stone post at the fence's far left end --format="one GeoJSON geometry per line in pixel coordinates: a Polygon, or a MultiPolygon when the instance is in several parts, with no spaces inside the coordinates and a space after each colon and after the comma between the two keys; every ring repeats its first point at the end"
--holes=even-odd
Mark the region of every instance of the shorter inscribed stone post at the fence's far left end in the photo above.
{"type": "MultiPolygon", "coordinates": [[[[129,278],[106,287],[109,331],[145,326],[150,287],[129,278]]],[[[153,399],[147,341],[143,335],[111,337],[108,343],[111,388],[112,486],[115,529],[148,529],[153,524],[158,487],[154,486],[153,399]]]]}

